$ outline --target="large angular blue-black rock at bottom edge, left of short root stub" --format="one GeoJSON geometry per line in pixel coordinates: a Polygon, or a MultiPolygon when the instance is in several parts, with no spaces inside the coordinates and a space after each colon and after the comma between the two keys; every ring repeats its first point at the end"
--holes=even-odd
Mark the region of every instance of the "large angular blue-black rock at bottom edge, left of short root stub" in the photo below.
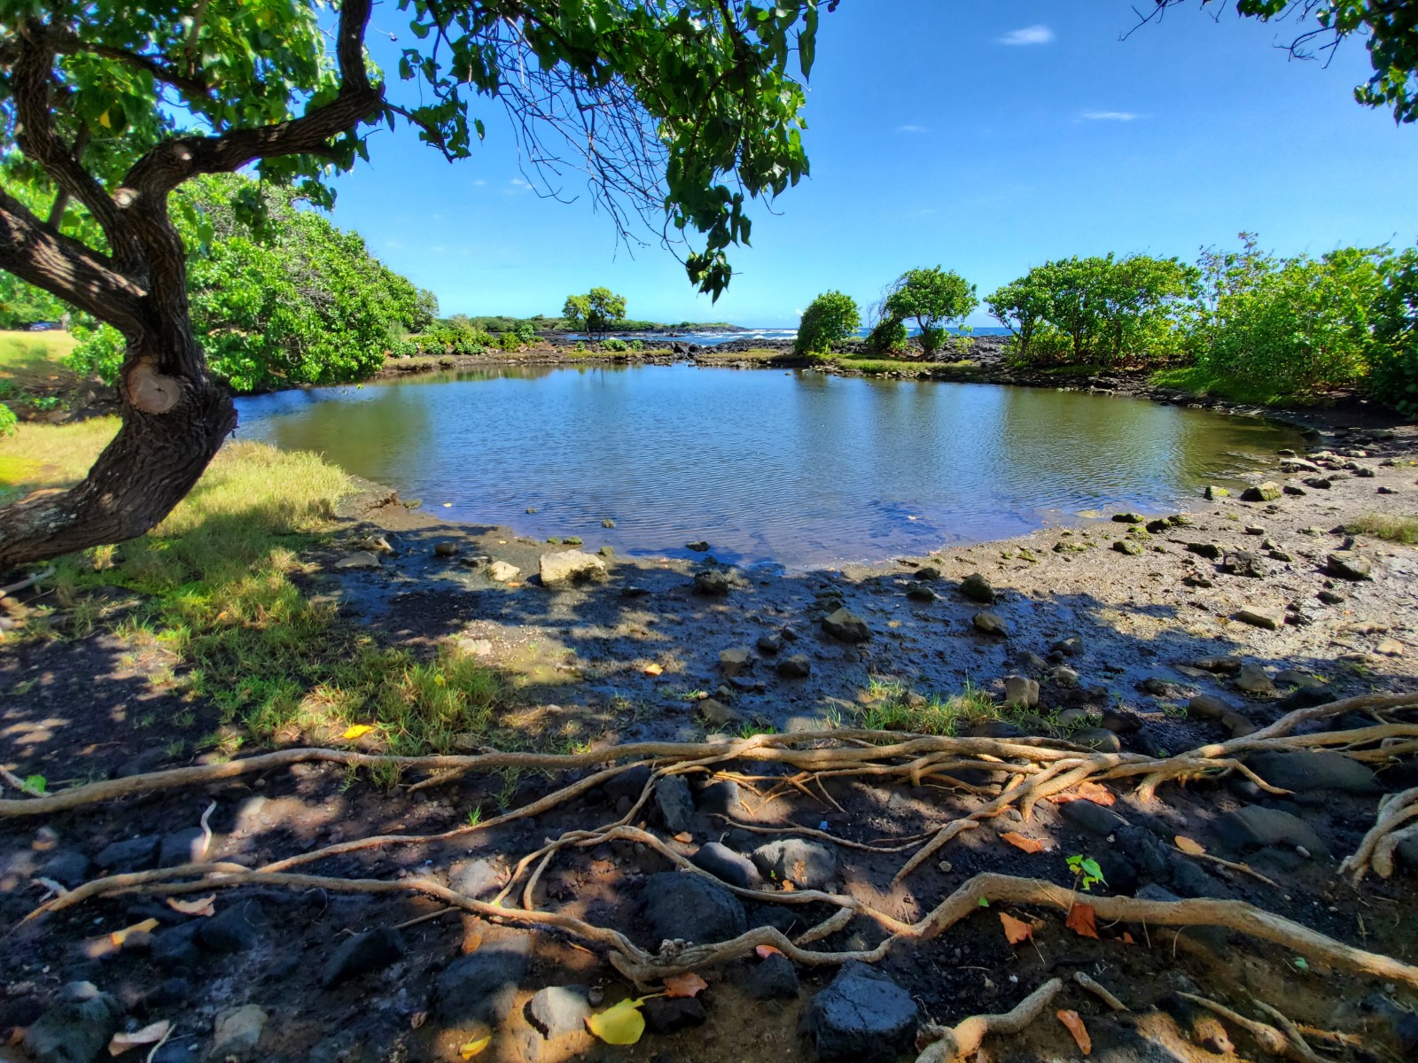
{"type": "Polygon", "coordinates": [[[813,998],[807,1028],[822,1063],[875,1063],[910,1047],[917,1018],[909,992],[876,968],[852,961],[813,998]]]}

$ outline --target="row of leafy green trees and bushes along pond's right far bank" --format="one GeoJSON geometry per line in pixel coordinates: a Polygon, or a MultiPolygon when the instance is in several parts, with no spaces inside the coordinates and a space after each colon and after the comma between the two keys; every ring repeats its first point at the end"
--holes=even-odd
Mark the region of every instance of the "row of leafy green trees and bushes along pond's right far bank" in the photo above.
{"type": "MultiPolygon", "coordinates": [[[[1418,249],[1340,248],[1317,258],[1204,248],[1195,262],[1151,255],[1044,262],[984,298],[1010,330],[1017,366],[1160,370],[1194,367],[1219,384],[1263,386],[1307,398],[1358,388],[1418,412],[1418,249]]],[[[961,323],[978,306],[959,274],[910,269],[873,308],[865,347],[876,356],[932,359],[968,346],[961,323]],[[919,329],[908,340],[905,323],[919,329]]],[[[856,303],[825,292],[798,330],[800,354],[822,354],[861,327],[856,303]]]]}

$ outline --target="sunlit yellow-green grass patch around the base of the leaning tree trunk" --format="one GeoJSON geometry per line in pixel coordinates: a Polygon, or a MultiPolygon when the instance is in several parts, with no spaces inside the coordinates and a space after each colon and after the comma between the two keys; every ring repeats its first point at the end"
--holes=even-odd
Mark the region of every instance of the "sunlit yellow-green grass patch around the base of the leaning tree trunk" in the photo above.
{"type": "MultiPolygon", "coordinates": [[[[20,425],[0,442],[0,492],[13,500],[74,482],[116,428],[20,425]]],[[[339,741],[354,724],[396,753],[493,740],[493,672],[451,649],[415,660],[380,646],[302,591],[301,556],[329,537],[346,490],[346,475],[313,454],[228,444],[152,533],[60,558],[21,631],[78,639],[112,626],[135,649],[164,649],[173,692],[217,710],[220,729],[197,744],[227,754],[252,740],[339,741]],[[108,614],[115,588],[140,602],[121,619],[108,614]]]]}

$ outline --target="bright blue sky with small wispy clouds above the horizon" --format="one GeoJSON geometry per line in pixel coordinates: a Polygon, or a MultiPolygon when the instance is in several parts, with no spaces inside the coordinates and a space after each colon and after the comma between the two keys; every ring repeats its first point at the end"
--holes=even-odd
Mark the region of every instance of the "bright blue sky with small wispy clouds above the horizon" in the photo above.
{"type": "MultiPolygon", "coordinates": [[[[865,310],[919,265],[984,295],[1048,258],[1191,258],[1241,230],[1282,254],[1418,237],[1418,128],[1354,103],[1361,41],[1324,67],[1276,47],[1293,23],[1217,23],[1197,6],[1119,40],[1134,20],[1129,0],[844,0],[822,18],[808,94],[813,176],[777,214],[753,213],[718,305],[668,251],[617,245],[584,193],[535,196],[486,103],[488,140],[461,163],[406,129],[376,135],[372,163],[339,181],[335,221],[445,315],[556,313],[607,285],[634,317],[763,326],[795,325],[830,288],[865,310]]],[[[374,26],[407,35],[387,0],[374,26]]],[[[372,38],[393,69],[396,45],[372,38]]]]}

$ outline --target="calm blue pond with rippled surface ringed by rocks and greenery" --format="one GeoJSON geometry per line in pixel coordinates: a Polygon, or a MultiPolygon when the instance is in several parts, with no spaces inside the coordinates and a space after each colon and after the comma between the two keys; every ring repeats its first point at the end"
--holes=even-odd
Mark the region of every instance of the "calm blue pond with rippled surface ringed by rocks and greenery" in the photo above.
{"type": "Polygon", "coordinates": [[[452,520],[788,567],[1195,509],[1205,483],[1302,442],[1146,400],[695,366],[496,367],[238,407],[238,438],[319,451],[452,520]]]}

